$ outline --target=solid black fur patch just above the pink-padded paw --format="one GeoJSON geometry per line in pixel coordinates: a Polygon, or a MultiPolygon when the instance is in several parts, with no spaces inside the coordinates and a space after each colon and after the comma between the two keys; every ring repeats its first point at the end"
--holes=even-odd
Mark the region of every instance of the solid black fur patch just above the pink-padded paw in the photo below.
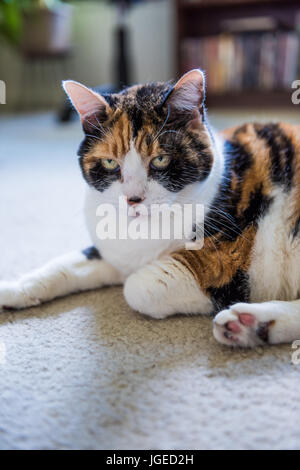
{"type": "Polygon", "coordinates": [[[237,302],[249,302],[249,278],[242,270],[238,270],[228,284],[222,287],[208,289],[216,311],[230,307],[237,302]]]}

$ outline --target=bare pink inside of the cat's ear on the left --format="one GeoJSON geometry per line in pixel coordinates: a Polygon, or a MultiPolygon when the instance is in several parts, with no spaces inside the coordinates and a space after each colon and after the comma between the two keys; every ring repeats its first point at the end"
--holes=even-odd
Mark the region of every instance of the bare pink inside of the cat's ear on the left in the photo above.
{"type": "Polygon", "coordinates": [[[104,98],[80,83],[67,81],[63,86],[82,120],[107,105],[104,98]]]}

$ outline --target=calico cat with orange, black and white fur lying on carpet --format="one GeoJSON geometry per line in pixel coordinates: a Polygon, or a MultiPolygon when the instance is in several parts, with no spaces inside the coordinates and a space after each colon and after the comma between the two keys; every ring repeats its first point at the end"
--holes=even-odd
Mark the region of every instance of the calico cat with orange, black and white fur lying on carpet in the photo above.
{"type": "Polygon", "coordinates": [[[300,126],[249,123],[219,135],[204,88],[199,70],[105,96],[64,82],[84,130],[93,247],[2,281],[0,307],[124,284],[128,304],[154,318],[216,313],[213,333],[225,345],[300,339],[300,126]],[[203,204],[203,247],[99,240],[97,207],[117,206],[120,195],[137,214],[141,204],[203,204]]]}

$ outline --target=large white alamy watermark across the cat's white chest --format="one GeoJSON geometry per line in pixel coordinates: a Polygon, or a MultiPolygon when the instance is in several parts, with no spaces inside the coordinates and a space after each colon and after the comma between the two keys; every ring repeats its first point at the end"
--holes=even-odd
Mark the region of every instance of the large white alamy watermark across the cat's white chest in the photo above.
{"type": "Polygon", "coordinates": [[[199,250],[204,240],[202,204],[136,204],[120,196],[117,205],[96,209],[99,240],[181,240],[187,250],[199,250]]]}

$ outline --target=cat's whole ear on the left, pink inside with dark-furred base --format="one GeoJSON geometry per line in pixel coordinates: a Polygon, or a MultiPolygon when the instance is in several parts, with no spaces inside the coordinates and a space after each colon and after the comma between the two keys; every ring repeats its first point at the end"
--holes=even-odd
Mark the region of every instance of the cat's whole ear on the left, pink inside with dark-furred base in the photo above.
{"type": "Polygon", "coordinates": [[[105,120],[110,108],[101,95],[73,80],[65,80],[62,85],[82,123],[93,121],[95,116],[105,120]]]}

